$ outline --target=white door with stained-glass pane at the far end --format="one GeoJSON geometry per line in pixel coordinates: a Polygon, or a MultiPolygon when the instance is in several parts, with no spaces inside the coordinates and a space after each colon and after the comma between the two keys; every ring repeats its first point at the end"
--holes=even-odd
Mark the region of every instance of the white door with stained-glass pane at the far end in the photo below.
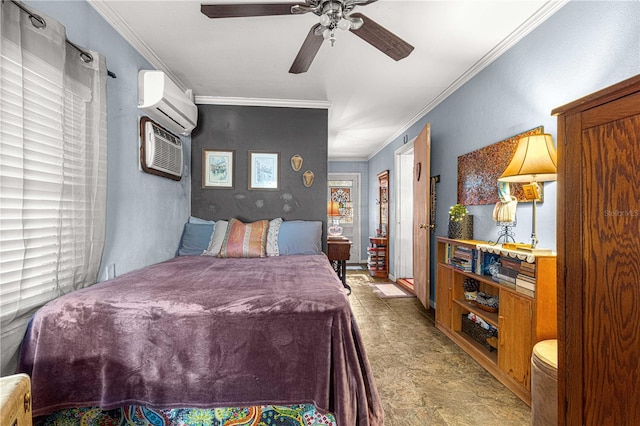
{"type": "MultiPolygon", "coordinates": [[[[348,263],[360,263],[360,174],[329,173],[328,189],[327,199],[340,204],[342,235],[353,243],[348,263]]],[[[333,218],[327,219],[331,226],[333,218]]]]}

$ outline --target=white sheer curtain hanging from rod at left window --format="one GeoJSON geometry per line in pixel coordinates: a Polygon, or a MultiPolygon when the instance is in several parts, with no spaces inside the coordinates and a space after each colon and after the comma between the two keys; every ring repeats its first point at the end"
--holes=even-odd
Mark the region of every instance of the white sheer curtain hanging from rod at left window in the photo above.
{"type": "MultiPolygon", "coordinates": [[[[35,10],[29,8],[34,13],[35,10]]],[[[0,347],[14,373],[33,312],[96,282],[106,212],[106,67],[65,28],[2,2],[0,347]],[[35,22],[35,21],[34,21],[35,22]],[[36,22],[37,23],[37,22],[36,22]]]]}

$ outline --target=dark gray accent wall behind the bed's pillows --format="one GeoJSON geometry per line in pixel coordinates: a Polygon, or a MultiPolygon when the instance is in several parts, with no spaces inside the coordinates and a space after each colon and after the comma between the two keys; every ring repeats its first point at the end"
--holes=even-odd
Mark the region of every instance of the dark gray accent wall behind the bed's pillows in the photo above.
{"type": "Polygon", "coordinates": [[[245,222],[282,217],[285,220],[327,220],[326,109],[198,105],[198,127],[192,133],[191,214],[205,219],[245,222]],[[202,150],[235,151],[233,189],[202,187],[202,150]],[[280,188],[249,190],[249,151],[280,154],[280,188]],[[294,171],[291,157],[303,158],[294,171]],[[315,180],[304,186],[302,174],[315,180]]]}

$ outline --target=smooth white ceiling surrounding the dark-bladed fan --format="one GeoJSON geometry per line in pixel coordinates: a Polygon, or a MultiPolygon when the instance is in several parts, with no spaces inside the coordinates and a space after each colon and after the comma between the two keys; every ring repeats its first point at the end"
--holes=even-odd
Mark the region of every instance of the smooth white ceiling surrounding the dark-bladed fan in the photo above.
{"type": "Polygon", "coordinates": [[[296,75],[311,13],[209,19],[201,3],[232,2],[88,1],[196,103],[328,108],[331,160],[371,158],[565,3],[379,0],[355,11],[412,44],[407,58],[338,30],[296,75]]]}

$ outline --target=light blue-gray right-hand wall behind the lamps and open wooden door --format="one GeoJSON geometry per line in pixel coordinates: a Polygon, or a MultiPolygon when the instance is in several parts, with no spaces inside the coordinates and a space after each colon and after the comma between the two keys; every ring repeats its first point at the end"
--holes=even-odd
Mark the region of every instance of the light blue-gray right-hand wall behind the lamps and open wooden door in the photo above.
{"type": "MultiPolygon", "coordinates": [[[[415,138],[431,123],[431,175],[437,184],[436,232],[446,235],[448,210],[457,201],[458,156],[543,125],[557,141],[551,110],[640,73],[640,2],[571,1],[492,64],[420,118],[369,161],[369,181],[389,169],[395,179],[394,151],[405,135],[415,138]]],[[[428,78],[425,77],[425,84],[428,78]]],[[[539,247],[556,249],[556,182],[545,182],[539,204],[539,247]]],[[[370,200],[373,188],[369,188],[370,200]]],[[[375,219],[369,203],[369,226],[375,219]]],[[[395,199],[390,203],[390,235],[395,199]]],[[[471,206],[474,237],[495,240],[493,205],[471,206]]],[[[516,239],[531,234],[531,203],[517,207],[516,239]]],[[[391,246],[393,250],[393,245],[391,246]]],[[[394,271],[394,254],[389,255],[394,271]]],[[[435,253],[431,254],[431,298],[435,297],[435,253]]]]}

